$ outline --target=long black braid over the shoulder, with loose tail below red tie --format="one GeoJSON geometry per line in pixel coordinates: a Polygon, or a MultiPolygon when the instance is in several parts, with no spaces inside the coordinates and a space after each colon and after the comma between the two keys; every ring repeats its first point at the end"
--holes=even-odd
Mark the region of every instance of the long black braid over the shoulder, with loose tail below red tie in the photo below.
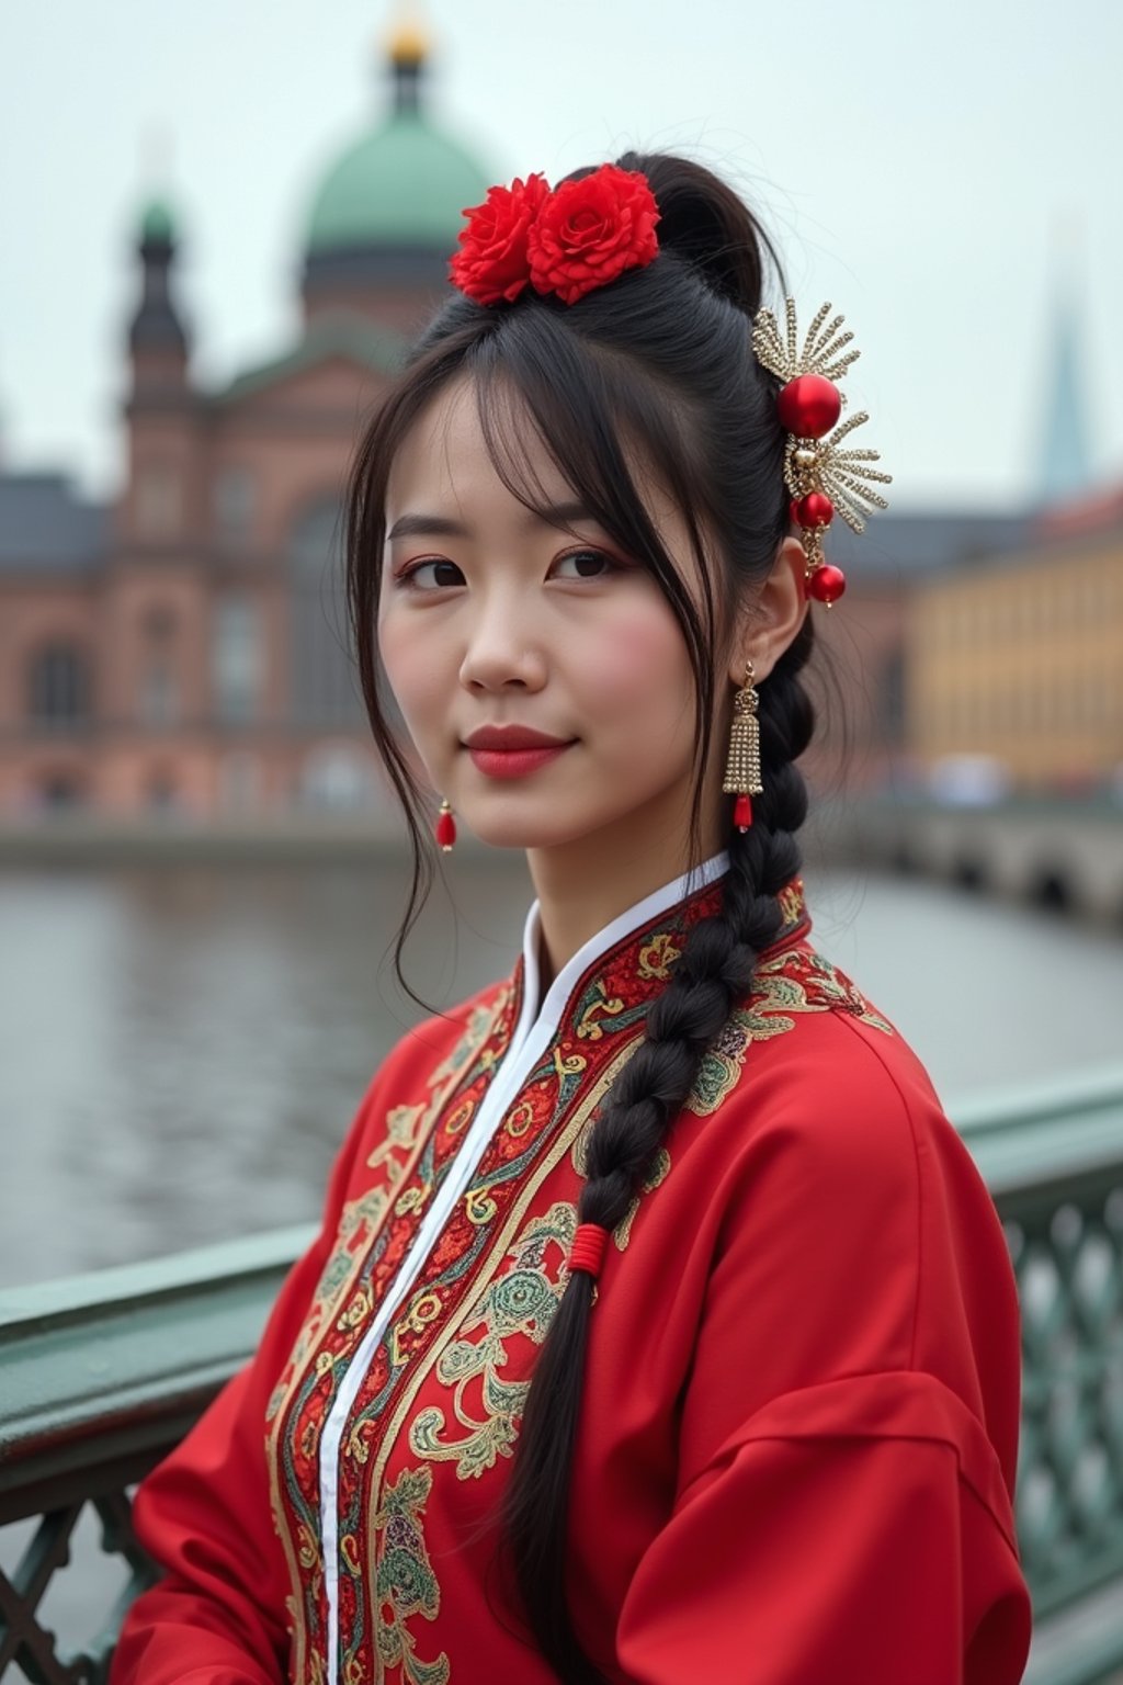
{"type": "MultiPolygon", "coordinates": [[[[721,912],[699,920],[667,987],[647,1014],[643,1043],[616,1077],[584,1149],[579,1223],[616,1228],[650,1174],[685,1105],[702,1055],[751,987],[753,967],[778,935],[778,891],[798,873],[795,832],[806,817],[796,757],[815,726],[800,669],[812,650],[810,617],[758,687],[763,795],[753,826],[731,831],[721,912]]],[[[535,1360],[503,1505],[503,1537],[530,1624],[566,1685],[603,1685],[581,1650],[562,1594],[567,1496],[581,1409],[593,1277],[569,1277],[535,1360]]]]}

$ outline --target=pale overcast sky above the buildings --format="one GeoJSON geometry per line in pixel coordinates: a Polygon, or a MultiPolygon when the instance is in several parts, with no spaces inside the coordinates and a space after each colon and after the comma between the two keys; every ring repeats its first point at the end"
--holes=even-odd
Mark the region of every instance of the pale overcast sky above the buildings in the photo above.
{"type": "MultiPolygon", "coordinates": [[[[626,147],[724,172],[803,324],[845,312],[892,507],[1022,504],[1054,293],[1123,480],[1120,0],[423,0],[429,106],[490,180],[626,147]]],[[[0,0],[0,450],[108,495],[131,238],[184,229],[200,379],[295,335],[310,199],[384,110],[392,0],[0,0]]]]}

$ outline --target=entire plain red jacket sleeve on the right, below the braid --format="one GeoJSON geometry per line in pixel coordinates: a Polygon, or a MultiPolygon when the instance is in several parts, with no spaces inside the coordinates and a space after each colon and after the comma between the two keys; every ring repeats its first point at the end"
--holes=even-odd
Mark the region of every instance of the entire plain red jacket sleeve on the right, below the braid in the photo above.
{"type": "Polygon", "coordinates": [[[635,1685],[1017,1685],[1002,1227],[913,1056],[820,1035],[822,1060],[746,1072],[761,1122],[726,1178],[677,1490],[618,1665],[635,1685]]]}

